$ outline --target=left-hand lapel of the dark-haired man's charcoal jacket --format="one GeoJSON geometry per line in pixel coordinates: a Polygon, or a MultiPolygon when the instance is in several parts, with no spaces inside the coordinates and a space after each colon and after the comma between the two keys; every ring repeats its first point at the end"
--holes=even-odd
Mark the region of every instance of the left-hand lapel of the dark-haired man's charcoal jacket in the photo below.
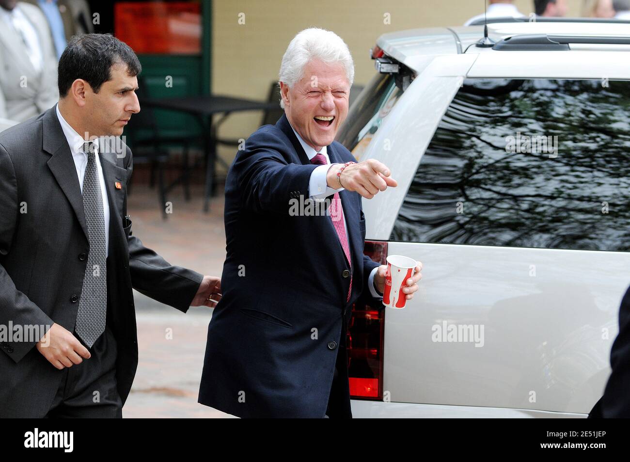
{"type": "Polygon", "coordinates": [[[59,183],[59,187],[66,195],[68,202],[76,214],[81,229],[88,238],[88,229],[85,222],[85,212],[83,210],[83,195],[81,195],[81,185],[77,176],[76,165],[72,159],[70,146],[64,131],[57,118],[57,105],[47,110],[42,119],[43,124],[43,150],[52,157],[48,161],[48,167],[52,175],[59,183]]]}

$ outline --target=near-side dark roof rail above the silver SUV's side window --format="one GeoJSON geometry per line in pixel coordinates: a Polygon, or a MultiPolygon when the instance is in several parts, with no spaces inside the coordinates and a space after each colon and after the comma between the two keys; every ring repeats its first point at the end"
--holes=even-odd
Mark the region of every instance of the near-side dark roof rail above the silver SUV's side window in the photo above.
{"type": "Polygon", "coordinates": [[[613,37],[606,35],[520,34],[503,38],[503,40],[496,42],[492,49],[500,51],[570,50],[569,43],[630,45],[630,35],[613,37]]]}

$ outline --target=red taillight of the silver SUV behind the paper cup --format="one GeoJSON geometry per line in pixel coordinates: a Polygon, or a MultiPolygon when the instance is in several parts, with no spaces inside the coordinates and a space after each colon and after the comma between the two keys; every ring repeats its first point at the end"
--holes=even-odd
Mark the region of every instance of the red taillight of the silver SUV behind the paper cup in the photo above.
{"type": "MultiPolygon", "coordinates": [[[[384,265],[387,243],[365,241],[364,253],[384,265]]],[[[355,303],[348,326],[348,379],[350,396],[381,400],[383,396],[383,340],[385,310],[380,306],[355,303]]]]}

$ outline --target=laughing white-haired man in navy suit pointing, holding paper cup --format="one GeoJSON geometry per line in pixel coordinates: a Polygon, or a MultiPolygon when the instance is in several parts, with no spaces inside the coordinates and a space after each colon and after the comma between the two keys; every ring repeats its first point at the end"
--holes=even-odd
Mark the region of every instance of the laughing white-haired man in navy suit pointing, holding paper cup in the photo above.
{"type": "MultiPolygon", "coordinates": [[[[299,33],[280,68],[285,115],[251,135],[232,163],[202,404],[239,417],[352,417],[346,328],[355,301],[381,303],[386,270],[363,253],[361,197],[396,186],[385,165],[350,163],[334,141],[353,72],[335,33],[299,33]]],[[[408,299],[419,279],[420,265],[408,299]]]]}

